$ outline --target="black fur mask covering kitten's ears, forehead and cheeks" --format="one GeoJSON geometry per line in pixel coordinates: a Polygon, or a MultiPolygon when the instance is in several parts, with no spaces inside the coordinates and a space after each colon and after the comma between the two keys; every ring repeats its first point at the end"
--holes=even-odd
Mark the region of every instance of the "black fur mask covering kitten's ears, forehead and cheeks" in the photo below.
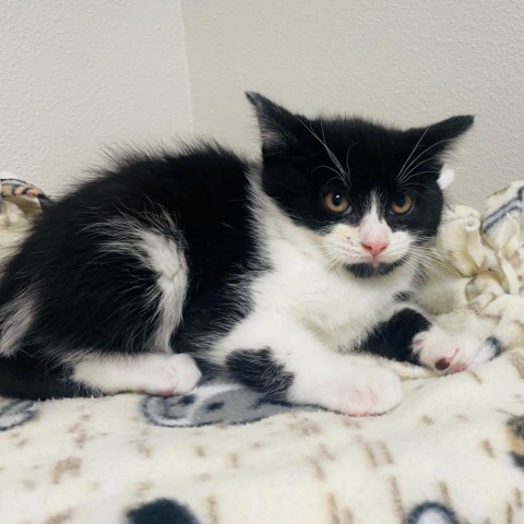
{"type": "Polygon", "coordinates": [[[272,135],[263,147],[264,190],[298,224],[311,229],[340,221],[358,224],[374,191],[392,229],[434,236],[443,203],[437,183],[442,155],[472,126],[473,117],[453,117],[427,128],[401,131],[358,118],[307,119],[260,95],[249,97],[258,108],[263,132],[265,129],[272,135]],[[333,164],[319,139],[348,171],[347,180],[333,176],[333,164]],[[396,175],[412,160],[413,172],[398,184],[396,175]],[[334,215],[322,205],[319,195],[326,187],[348,191],[352,214],[334,215]],[[391,203],[402,194],[415,201],[413,210],[405,215],[389,213],[391,203]]]}

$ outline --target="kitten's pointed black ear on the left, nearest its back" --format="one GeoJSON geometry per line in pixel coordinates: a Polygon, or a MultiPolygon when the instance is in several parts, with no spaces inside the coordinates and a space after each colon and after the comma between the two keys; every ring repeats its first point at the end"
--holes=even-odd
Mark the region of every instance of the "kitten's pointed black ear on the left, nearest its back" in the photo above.
{"type": "Polygon", "coordinates": [[[259,121],[264,157],[286,156],[299,144],[300,120],[259,93],[247,92],[259,121]]]}

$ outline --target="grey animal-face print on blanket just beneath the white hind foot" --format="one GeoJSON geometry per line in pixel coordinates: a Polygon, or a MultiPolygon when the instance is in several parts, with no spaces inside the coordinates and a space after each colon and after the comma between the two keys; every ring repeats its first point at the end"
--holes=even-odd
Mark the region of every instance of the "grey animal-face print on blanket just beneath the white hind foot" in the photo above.
{"type": "MultiPolygon", "coordinates": [[[[294,409],[296,407],[267,402],[259,393],[238,384],[212,383],[181,397],[145,396],[141,401],[146,420],[171,428],[249,424],[294,409]]],[[[300,409],[313,408],[301,406],[300,409]]]]}

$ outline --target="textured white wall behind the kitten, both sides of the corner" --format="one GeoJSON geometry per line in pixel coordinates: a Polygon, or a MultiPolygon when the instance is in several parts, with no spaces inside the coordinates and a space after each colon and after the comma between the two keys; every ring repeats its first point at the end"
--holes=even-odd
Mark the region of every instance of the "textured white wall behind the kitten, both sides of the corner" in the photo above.
{"type": "Polygon", "coordinates": [[[257,90],[303,112],[405,126],[473,112],[457,200],[479,205],[524,178],[524,2],[181,4],[3,0],[0,169],[57,193],[105,145],[170,142],[192,118],[198,132],[257,152],[243,98],[257,90]]]}

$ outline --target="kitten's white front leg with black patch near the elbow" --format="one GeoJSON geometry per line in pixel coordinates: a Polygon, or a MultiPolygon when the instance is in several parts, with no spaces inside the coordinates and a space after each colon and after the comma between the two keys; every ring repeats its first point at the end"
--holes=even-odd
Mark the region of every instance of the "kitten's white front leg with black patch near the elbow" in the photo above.
{"type": "Polygon", "coordinates": [[[213,352],[216,364],[277,402],[317,405],[349,415],[374,415],[402,400],[398,378],[369,358],[326,348],[279,314],[253,314],[213,352]]]}

